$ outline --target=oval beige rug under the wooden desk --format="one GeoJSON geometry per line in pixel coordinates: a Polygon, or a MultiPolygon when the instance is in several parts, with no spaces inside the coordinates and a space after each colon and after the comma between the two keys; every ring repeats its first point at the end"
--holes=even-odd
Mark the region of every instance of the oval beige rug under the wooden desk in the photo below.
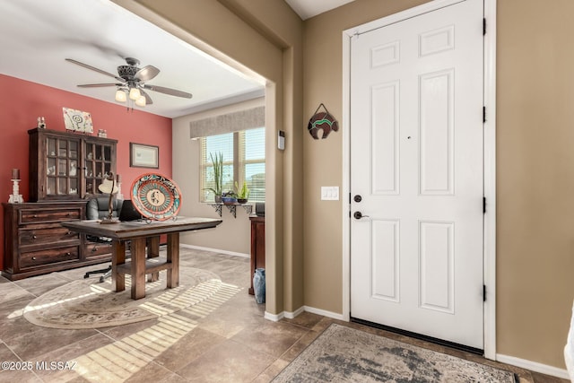
{"type": "Polygon", "coordinates": [[[179,286],[166,289],[166,275],[160,281],[145,283],[145,298],[132,300],[131,280],[126,275],[126,291],[113,292],[111,281],[82,279],[46,292],[24,309],[31,323],[52,328],[100,328],[126,325],[159,318],[208,300],[224,287],[212,272],[179,267],[179,286]]]}

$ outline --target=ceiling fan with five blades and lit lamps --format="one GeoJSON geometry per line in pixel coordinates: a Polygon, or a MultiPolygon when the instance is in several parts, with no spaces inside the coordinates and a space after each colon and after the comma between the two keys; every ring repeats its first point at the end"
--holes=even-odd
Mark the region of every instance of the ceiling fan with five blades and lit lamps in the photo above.
{"type": "Polygon", "coordinates": [[[152,80],[160,73],[160,70],[153,65],[145,65],[143,68],[138,67],[140,61],[134,57],[126,57],[126,65],[117,66],[117,75],[98,69],[94,66],[83,64],[73,58],[66,58],[66,61],[75,65],[83,66],[100,74],[105,74],[117,80],[117,83],[86,83],[78,85],[80,88],[100,88],[105,86],[116,86],[116,100],[125,102],[127,98],[135,101],[135,105],[145,106],[152,104],[152,98],[146,91],[159,91],[160,93],[169,94],[170,96],[183,97],[191,99],[192,94],[187,91],[178,91],[176,89],[166,88],[164,86],[152,85],[145,83],[152,80]]]}

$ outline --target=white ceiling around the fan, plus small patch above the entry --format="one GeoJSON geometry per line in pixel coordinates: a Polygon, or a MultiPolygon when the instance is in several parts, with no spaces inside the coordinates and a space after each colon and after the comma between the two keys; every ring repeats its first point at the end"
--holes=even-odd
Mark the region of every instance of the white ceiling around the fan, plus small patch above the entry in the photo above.
{"type": "MultiPolygon", "coordinates": [[[[349,2],[285,1],[303,20],[349,2]]],[[[168,118],[265,94],[262,83],[109,0],[0,0],[0,52],[0,74],[114,103],[113,86],[77,87],[115,83],[114,79],[65,58],[117,74],[117,65],[126,64],[125,57],[135,57],[140,67],[153,65],[161,70],[147,84],[193,94],[189,100],[148,91],[153,104],[144,110],[168,118]]]]}

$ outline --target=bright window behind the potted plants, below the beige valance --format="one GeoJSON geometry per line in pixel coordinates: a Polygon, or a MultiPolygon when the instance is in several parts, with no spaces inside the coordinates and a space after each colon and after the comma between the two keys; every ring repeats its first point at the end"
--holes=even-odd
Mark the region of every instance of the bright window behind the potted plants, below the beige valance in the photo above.
{"type": "Polygon", "coordinates": [[[213,202],[211,155],[223,156],[223,193],[247,181],[250,202],[265,202],[265,127],[201,137],[201,202],[213,202]]]}

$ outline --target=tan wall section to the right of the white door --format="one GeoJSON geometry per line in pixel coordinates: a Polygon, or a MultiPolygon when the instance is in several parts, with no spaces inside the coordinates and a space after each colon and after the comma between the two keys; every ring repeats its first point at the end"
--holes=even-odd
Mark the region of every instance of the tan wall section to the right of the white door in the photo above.
{"type": "Polygon", "coordinates": [[[498,3],[498,353],[563,367],[574,296],[574,2],[498,3]]]}

